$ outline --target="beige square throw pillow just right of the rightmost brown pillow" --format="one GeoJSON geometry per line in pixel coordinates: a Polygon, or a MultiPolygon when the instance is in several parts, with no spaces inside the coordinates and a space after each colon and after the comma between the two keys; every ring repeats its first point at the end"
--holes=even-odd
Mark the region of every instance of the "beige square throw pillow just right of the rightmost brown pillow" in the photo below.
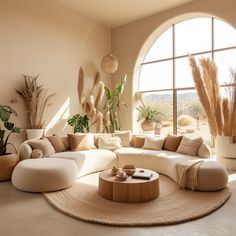
{"type": "Polygon", "coordinates": [[[176,152],[197,156],[202,141],[202,138],[190,139],[184,136],[176,152]]]}

